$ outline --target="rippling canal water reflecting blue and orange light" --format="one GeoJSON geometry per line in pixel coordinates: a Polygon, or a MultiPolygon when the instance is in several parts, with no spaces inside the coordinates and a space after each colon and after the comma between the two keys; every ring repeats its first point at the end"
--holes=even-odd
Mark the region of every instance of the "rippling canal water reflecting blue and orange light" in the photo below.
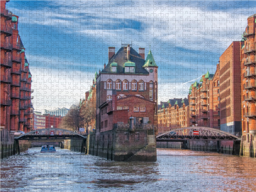
{"type": "Polygon", "coordinates": [[[1,192],[256,191],[256,158],[158,149],[157,161],[114,162],[68,149],[1,160],[1,192]]]}

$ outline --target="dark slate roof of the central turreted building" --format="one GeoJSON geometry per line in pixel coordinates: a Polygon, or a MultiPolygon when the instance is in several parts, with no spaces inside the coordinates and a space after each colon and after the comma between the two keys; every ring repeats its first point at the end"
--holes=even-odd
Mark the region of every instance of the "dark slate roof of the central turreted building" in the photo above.
{"type": "MultiPolygon", "coordinates": [[[[149,72],[143,68],[145,60],[140,56],[138,52],[136,52],[132,47],[130,47],[130,62],[135,64],[135,73],[131,74],[145,74],[148,75],[149,72]]],[[[101,73],[120,73],[124,74],[124,63],[129,62],[127,60],[127,52],[124,52],[124,47],[121,47],[116,54],[112,57],[112,59],[108,62],[107,66],[102,69],[101,73]],[[111,63],[116,62],[116,72],[112,72],[111,63]]],[[[128,73],[130,74],[130,73],[128,73]]]]}

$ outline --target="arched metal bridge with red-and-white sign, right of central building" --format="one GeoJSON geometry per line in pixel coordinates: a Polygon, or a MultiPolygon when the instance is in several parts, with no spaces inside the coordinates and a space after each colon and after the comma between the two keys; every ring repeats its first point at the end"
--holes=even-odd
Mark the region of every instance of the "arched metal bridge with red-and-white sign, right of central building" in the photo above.
{"type": "Polygon", "coordinates": [[[241,133],[230,134],[210,127],[182,127],[156,136],[156,141],[182,142],[185,140],[241,140],[241,133]]]}

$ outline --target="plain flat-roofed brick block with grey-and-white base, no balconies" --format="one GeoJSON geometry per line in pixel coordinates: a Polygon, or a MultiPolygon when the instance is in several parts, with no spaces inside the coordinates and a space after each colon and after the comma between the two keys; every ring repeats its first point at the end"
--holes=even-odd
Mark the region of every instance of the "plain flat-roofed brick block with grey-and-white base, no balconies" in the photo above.
{"type": "Polygon", "coordinates": [[[232,42],[220,56],[220,130],[241,129],[241,45],[232,42]]]}

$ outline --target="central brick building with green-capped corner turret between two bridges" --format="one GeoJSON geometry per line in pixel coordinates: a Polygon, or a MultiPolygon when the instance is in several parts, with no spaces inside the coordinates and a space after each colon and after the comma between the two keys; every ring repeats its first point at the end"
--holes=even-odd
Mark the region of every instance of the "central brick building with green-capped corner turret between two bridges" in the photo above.
{"type": "Polygon", "coordinates": [[[111,130],[116,123],[157,125],[157,65],[151,50],[136,52],[129,44],[115,53],[108,48],[107,66],[96,77],[96,130],[111,130]],[[116,118],[120,115],[120,118],[116,118]]]}

